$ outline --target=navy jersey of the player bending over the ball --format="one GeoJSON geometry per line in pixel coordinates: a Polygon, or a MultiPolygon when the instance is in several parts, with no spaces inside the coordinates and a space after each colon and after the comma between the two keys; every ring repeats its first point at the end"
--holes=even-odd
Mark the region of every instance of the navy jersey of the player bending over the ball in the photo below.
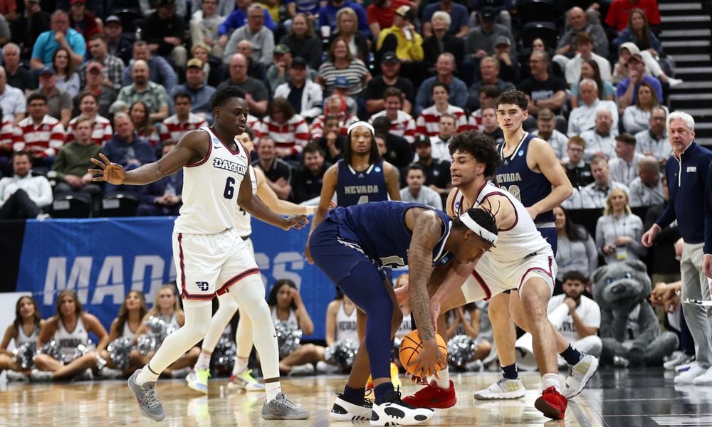
{"type": "Polygon", "coordinates": [[[379,201],[369,204],[336,208],[327,218],[339,226],[340,243],[355,246],[377,265],[398,268],[408,265],[408,248],[412,231],[405,225],[405,214],[412,208],[432,209],[443,220],[444,226],[433,249],[433,263],[444,264],[450,258],[445,241],[450,235],[452,220],[443,211],[430,206],[403,201],[379,201]]]}

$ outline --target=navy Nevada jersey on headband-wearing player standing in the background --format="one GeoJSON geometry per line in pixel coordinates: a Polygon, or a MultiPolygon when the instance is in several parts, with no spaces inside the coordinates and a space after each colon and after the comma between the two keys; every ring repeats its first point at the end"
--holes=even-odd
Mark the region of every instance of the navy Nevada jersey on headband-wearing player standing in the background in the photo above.
{"type": "Polygon", "coordinates": [[[383,160],[372,164],[363,172],[356,172],[343,160],[339,160],[339,176],[336,186],[338,206],[353,206],[370,201],[388,200],[383,160]]]}

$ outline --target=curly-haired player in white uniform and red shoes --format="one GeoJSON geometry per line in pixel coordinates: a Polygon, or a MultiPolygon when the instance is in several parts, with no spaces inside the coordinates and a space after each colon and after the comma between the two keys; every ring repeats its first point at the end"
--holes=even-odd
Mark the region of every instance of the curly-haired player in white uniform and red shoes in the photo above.
{"type": "MultiPolygon", "coordinates": [[[[525,322],[522,326],[533,334],[534,353],[544,382],[544,391],[535,401],[535,407],[549,418],[562,419],[567,399],[560,393],[555,349],[559,339],[565,340],[556,333],[546,317],[546,306],[556,277],[553,251],[520,201],[488,181],[500,162],[489,137],[479,132],[464,132],[452,139],[450,150],[455,189],[448,197],[448,214],[457,216],[465,209],[481,206],[493,214],[499,238],[465,283],[459,278],[451,280],[449,277],[439,285],[432,297],[433,315],[437,317],[451,308],[517,288],[524,308],[525,322]]],[[[451,396],[451,402],[445,403],[452,406],[455,401],[454,385],[449,381],[447,369],[439,374],[440,379],[431,381],[426,389],[408,396],[404,401],[422,406],[422,401],[442,399],[443,395],[451,396]],[[449,386],[439,384],[443,382],[449,383],[449,386]]]]}

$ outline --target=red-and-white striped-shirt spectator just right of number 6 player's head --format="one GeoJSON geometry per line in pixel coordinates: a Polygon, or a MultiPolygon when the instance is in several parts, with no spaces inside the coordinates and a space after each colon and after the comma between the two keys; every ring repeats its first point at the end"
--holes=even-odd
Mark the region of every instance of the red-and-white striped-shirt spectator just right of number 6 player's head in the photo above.
{"type": "Polygon", "coordinates": [[[277,97],[270,102],[268,115],[255,128],[256,144],[266,135],[274,140],[279,157],[294,157],[309,142],[309,126],[304,117],[295,114],[286,98],[277,97]]]}

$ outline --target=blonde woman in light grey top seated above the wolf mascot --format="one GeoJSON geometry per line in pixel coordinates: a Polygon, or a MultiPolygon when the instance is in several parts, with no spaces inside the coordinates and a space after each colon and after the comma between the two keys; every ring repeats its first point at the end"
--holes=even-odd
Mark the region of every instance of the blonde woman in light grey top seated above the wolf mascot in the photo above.
{"type": "Polygon", "coordinates": [[[641,243],[643,221],[632,213],[624,189],[612,189],[603,216],[596,223],[596,246],[607,264],[638,260],[645,255],[641,243]]]}

